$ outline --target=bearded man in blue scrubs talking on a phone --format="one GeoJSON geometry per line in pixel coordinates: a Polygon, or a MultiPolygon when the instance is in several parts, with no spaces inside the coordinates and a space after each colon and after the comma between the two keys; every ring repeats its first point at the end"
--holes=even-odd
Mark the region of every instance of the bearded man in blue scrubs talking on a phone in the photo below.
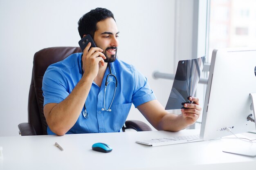
{"type": "Polygon", "coordinates": [[[195,123],[198,98],[190,97],[193,104],[185,104],[181,115],[168,113],[146,77],[116,58],[119,31],[111,11],[91,10],[78,24],[81,38],[92,35],[97,47],[89,43],[83,53],[47,68],[42,89],[48,134],[119,132],[132,103],[157,130],[178,131],[195,123]]]}

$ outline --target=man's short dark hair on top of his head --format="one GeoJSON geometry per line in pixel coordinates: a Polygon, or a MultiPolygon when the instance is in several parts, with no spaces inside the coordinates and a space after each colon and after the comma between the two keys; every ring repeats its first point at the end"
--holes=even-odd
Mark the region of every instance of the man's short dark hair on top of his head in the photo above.
{"type": "Polygon", "coordinates": [[[105,8],[96,8],[85,13],[78,21],[78,32],[80,37],[83,38],[83,35],[85,34],[90,34],[94,37],[94,32],[97,31],[96,24],[107,18],[113,18],[115,20],[114,14],[105,8]]]}

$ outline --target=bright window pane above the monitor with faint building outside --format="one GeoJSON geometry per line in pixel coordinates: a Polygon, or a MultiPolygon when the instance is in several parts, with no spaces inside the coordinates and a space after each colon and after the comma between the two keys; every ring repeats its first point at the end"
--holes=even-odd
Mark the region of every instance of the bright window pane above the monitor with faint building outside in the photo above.
{"type": "Polygon", "coordinates": [[[209,50],[256,45],[256,0],[210,0],[209,50]]]}

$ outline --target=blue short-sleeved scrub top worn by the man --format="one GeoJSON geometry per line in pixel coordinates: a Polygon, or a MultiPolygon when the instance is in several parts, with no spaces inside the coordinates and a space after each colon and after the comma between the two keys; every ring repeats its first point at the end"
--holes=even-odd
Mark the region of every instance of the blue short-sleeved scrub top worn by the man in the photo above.
{"type": "MultiPolygon", "coordinates": [[[[82,53],[75,53],[47,68],[42,86],[44,106],[48,103],[60,103],[72,92],[82,77],[81,57],[82,53]]],[[[134,66],[117,59],[110,64],[110,67],[112,74],[117,77],[118,83],[115,98],[110,108],[112,111],[101,110],[104,108],[106,77],[110,74],[110,69],[107,67],[101,87],[93,82],[86,99],[88,119],[83,117],[83,108],[78,120],[66,134],[120,132],[132,104],[137,107],[156,99],[146,77],[137,71],[134,66]]],[[[108,77],[109,81],[115,81],[115,78],[110,75],[108,77]]],[[[115,83],[110,82],[106,89],[106,109],[111,104],[114,92],[115,83]]],[[[47,133],[48,135],[54,134],[49,127],[47,133]]]]}

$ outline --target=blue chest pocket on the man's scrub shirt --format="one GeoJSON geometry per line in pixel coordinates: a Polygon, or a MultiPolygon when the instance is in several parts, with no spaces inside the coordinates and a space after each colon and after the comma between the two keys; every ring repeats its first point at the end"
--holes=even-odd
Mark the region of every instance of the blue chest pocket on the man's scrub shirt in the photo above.
{"type": "Polygon", "coordinates": [[[115,132],[118,132],[124,126],[131,106],[132,103],[113,105],[115,132]]]}

